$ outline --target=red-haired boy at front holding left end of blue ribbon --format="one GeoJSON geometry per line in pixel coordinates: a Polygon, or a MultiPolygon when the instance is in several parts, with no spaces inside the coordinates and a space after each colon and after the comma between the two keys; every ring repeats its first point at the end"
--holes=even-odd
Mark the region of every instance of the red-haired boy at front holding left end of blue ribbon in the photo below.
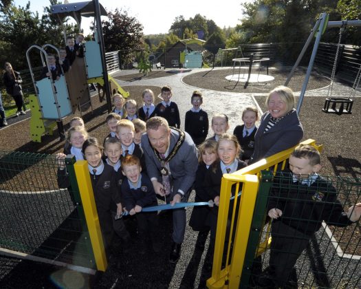
{"type": "Polygon", "coordinates": [[[127,177],[127,180],[122,183],[124,207],[130,215],[135,215],[137,219],[141,242],[140,254],[146,253],[148,236],[151,239],[153,250],[158,253],[162,244],[159,239],[157,211],[142,212],[142,208],[146,206],[157,206],[157,197],[151,180],[141,171],[139,158],[132,155],[123,158],[122,173],[127,177]]]}

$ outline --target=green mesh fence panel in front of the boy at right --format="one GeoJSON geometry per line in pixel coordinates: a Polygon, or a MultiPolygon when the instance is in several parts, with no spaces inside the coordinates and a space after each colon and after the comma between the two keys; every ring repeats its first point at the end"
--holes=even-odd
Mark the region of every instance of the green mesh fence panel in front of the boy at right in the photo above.
{"type": "Polygon", "coordinates": [[[360,222],[342,214],[361,202],[361,180],[321,178],[302,184],[277,173],[272,182],[262,173],[241,288],[361,288],[360,222]],[[277,221],[271,208],[282,211],[277,221]],[[257,256],[268,235],[270,248],[257,256]]]}

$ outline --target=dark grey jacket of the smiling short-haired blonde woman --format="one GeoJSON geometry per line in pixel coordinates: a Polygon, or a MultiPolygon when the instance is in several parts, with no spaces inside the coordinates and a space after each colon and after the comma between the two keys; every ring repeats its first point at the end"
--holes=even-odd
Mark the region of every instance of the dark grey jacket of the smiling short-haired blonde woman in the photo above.
{"type": "Polygon", "coordinates": [[[254,152],[249,164],[289,149],[303,138],[303,127],[300,124],[296,109],[279,120],[274,127],[265,131],[270,117],[270,111],[267,111],[261,118],[261,125],[257,129],[256,136],[254,136],[254,152]]]}

